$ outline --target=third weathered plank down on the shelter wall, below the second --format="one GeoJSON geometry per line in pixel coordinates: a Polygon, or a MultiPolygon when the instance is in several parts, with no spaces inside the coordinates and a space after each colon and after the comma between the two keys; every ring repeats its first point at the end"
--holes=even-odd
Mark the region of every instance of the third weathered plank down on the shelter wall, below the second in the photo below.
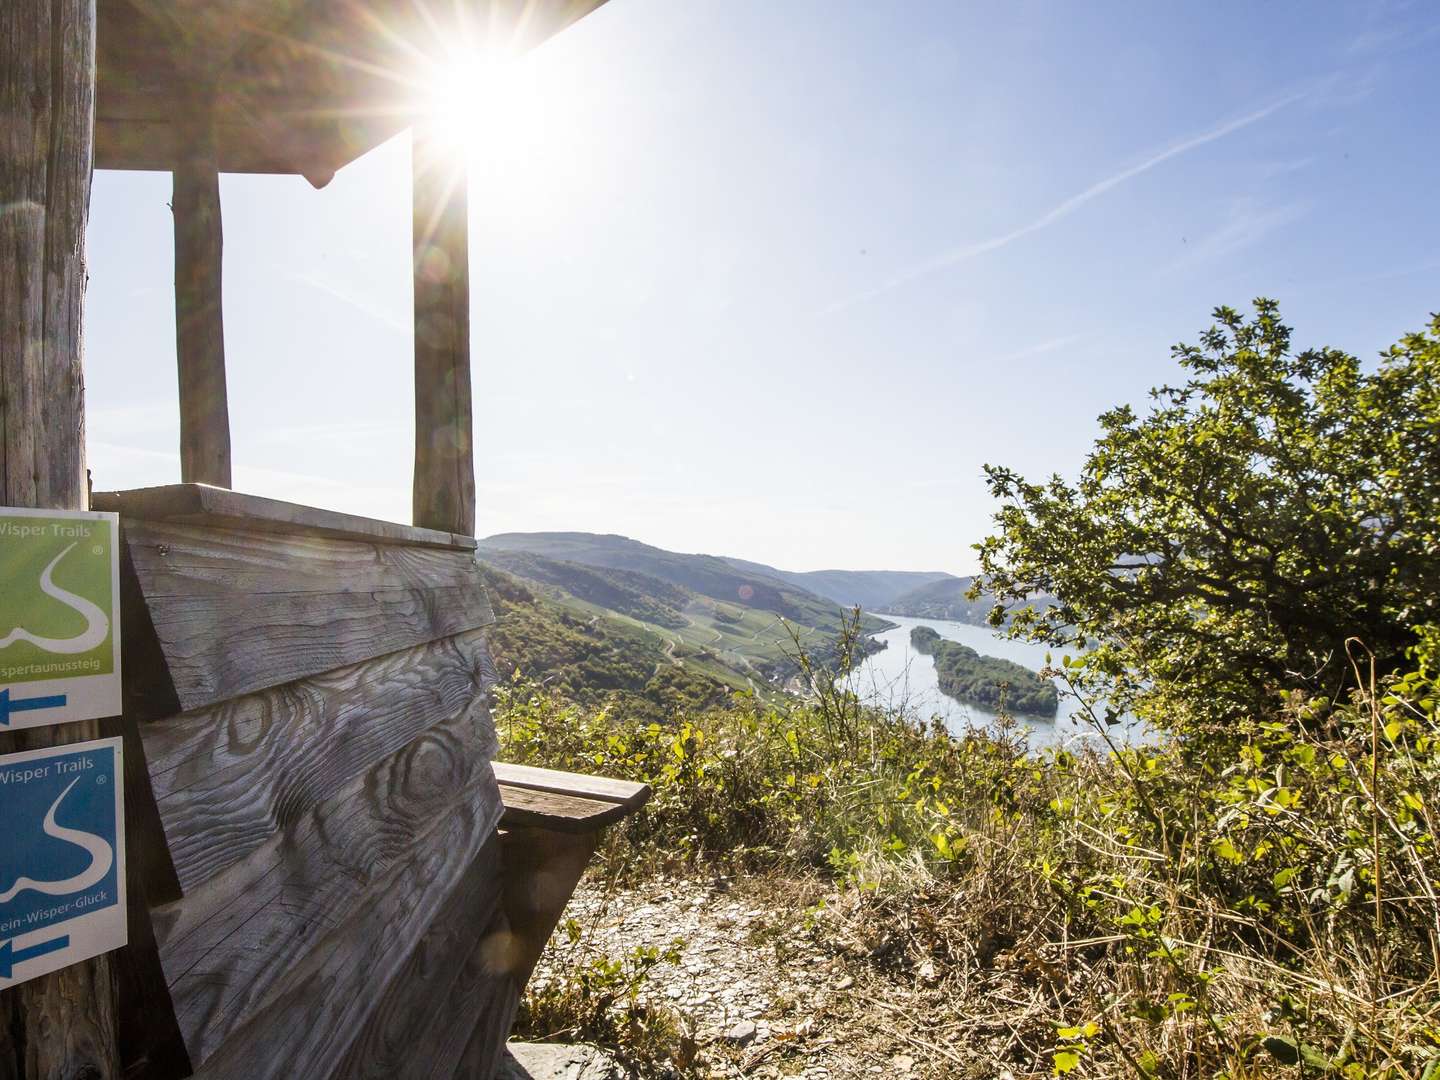
{"type": "Polygon", "coordinates": [[[154,913],[206,1077],[324,1076],[500,819],[472,708],[154,913]]]}

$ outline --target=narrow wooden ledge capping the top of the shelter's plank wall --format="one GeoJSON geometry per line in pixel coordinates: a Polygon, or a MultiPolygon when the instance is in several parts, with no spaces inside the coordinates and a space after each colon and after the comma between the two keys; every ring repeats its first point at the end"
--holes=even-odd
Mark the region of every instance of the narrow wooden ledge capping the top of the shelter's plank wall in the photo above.
{"type": "Polygon", "coordinates": [[[370,540],[382,544],[458,547],[474,552],[471,536],[416,528],[373,517],[282,503],[206,484],[167,484],[130,491],[96,491],[94,510],[109,510],[144,521],[187,521],[216,528],[246,528],[284,536],[328,536],[333,540],[370,540]]]}

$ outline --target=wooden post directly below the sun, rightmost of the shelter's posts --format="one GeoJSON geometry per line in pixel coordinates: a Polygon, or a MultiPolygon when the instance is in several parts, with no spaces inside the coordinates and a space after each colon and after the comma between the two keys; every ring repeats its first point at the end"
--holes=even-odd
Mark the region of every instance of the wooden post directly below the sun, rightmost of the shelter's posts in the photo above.
{"type": "Polygon", "coordinates": [[[475,533],[469,396],[469,251],[465,167],[441,137],[416,127],[413,173],[415,517],[475,533]]]}

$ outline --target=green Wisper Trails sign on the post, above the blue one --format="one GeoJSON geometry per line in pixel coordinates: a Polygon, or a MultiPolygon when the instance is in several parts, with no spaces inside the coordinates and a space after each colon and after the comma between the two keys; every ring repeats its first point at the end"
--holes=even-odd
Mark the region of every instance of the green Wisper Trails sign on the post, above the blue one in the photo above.
{"type": "Polygon", "coordinates": [[[120,713],[120,516],[0,507],[0,732],[120,713]]]}

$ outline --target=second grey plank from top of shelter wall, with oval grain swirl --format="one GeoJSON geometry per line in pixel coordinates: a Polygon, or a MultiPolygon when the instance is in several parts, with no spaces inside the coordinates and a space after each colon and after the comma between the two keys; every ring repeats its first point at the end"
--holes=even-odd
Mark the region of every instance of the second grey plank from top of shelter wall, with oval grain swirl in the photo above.
{"type": "Polygon", "coordinates": [[[144,726],[150,782],[186,891],[245,860],[426,729],[471,710],[495,733],[478,631],[144,726]]]}

